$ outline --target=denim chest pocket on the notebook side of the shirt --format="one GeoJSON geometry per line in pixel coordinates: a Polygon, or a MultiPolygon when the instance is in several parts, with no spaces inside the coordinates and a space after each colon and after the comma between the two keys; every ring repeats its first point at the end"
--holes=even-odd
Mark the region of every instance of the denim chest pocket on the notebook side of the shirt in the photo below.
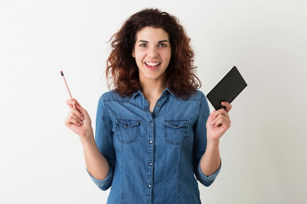
{"type": "Polygon", "coordinates": [[[164,120],[163,123],[166,142],[178,145],[186,140],[189,120],[164,120]]]}

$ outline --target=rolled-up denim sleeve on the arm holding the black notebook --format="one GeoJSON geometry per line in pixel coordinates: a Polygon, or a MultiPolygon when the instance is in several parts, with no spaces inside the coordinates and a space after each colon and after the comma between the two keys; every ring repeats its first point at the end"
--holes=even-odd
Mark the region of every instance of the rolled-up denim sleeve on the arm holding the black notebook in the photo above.
{"type": "MultiPolygon", "coordinates": [[[[193,126],[194,131],[194,143],[193,143],[193,166],[196,179],[200,181],[203,185],[209,186],[213,183],[217,175],[220,173],[221,165],[219,168],[209,176],[206,176],[200,167],[200,161],[202,156],[205,154],[207,146],[207,129],[206,121],[210,114],[209,106],[205,94],[202,93],[202,100],[198,110],[198,116],[196,122],[193,126]]],[[[222,162],[221,162],[222,164],[222,162]]]]}

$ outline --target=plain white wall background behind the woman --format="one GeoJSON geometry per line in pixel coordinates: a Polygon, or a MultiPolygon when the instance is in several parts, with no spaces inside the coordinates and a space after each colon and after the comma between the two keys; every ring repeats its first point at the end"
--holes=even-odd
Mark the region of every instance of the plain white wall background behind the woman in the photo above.
{"type": "MultiPolygon", "coordinates": [[[[128,16],[179,18],[207,93],[232,66],[248,86],[232,102],[222,169],[204,204],[307,203],[306,0],[1,0],[0,203],[103,204],[89,178],[60,70],[89,112],[107,91],[107,43],[128,16]]],[[[212,110],[212,106],[210,106],[212,110]]]]}

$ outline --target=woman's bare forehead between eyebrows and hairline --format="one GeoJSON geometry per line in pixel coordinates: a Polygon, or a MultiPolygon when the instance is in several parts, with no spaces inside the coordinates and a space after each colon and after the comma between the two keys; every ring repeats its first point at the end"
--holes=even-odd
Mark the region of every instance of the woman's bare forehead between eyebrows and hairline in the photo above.
{"type": "Polygon", "coordinates": [[[144,27],[136,33],[136,40],[169,40],[169,35],[162,28],[144,27]]]}

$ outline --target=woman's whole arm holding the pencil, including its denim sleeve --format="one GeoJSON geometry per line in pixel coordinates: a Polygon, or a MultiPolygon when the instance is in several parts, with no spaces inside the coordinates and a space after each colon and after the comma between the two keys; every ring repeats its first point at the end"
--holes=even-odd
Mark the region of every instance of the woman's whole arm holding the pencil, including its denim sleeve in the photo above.
{"type": "Polygon", "coordinates": [[[80,138],[89,176],[99,188],[106,190],[113,181],[115,152],[112,141],[112,122],[105,111],[102,97],[98,102],[95,138],[91,119],[86,110],[76,99],[68,100],[67,104],[71,112],[65,124],[80,138]]]}

